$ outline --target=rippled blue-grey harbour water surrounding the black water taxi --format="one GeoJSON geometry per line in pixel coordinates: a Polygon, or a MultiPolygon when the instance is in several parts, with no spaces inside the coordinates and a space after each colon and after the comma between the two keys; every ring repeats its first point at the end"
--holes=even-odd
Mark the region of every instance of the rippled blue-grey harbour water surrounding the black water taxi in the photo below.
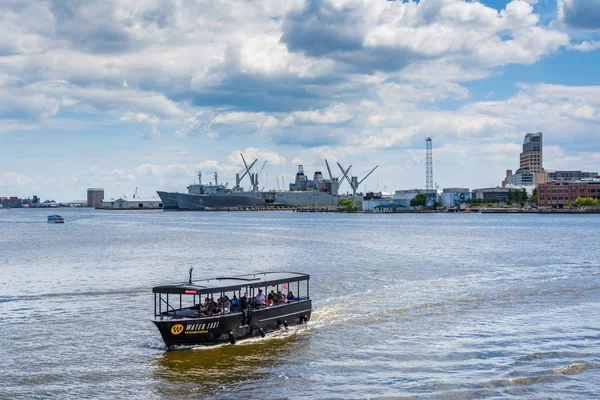
{"type": "Polygon", "coordinates": [[[0,398],[600,397],[596,215],[0,210],[0,398]],[[166,351],[153,285],[311,274],[311,322],[166,351]]]}

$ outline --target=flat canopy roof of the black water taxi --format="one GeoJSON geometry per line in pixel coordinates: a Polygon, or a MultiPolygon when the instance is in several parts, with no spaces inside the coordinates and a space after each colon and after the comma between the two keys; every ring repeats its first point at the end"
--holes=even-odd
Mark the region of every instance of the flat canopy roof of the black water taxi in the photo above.
{"type": "Polygon", "coordinates": [[[282,283],[308,281],[310,275],[297,272],[262,272],[238,276],[212,278],[203,281],[192,281],[161,285],[152,288],[153,293],[169,294],[210,294],[238,290],[242,287],[275,286],[282,283]]]}

